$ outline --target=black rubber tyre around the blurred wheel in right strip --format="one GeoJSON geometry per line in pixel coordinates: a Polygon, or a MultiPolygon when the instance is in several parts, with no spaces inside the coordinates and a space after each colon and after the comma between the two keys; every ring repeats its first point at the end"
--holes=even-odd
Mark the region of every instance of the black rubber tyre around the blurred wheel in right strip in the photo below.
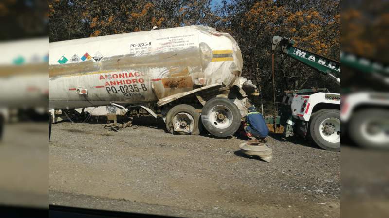
{"type": "MultiPolygon", "coordinates": [[[[388,109],[363,109],[355,112],[352,115],[348,125],[348,130],[349,130],[349,135],[351,140],[353,140],[353,142],[358,146],[364,148],[389,149],[389,144],[386,143],[385,141],[379,143],[378,141],[374,141],[366,137],[366,134],[369,133],[368,132],[364,133],[363,126],[366,126],[371,122],[386,122],[386,124],[389,123],[389,110],[388,109]]],[[[372,138],[373,137],[374,136],[372,136],[372,138]]]]}

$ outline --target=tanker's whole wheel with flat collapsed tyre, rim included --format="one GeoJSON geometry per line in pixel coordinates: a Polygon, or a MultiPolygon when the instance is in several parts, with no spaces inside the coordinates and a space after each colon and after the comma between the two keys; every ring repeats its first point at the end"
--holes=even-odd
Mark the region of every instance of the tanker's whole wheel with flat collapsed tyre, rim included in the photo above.
{"type": "Polygon", "coordinates": [[[171,133],[198,135],[201,127],[200,113],[190,105],[176,105],[166,114],[166,128],[171,133]]]}

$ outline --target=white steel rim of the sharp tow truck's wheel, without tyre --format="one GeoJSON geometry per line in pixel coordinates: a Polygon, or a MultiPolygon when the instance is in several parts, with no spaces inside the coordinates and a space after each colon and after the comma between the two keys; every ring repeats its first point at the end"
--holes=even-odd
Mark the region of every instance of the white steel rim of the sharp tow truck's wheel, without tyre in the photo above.
{"type": "Polygon", "coordinates": [[[340,143],[340,119],[331,117],[320,123],[320,136],[330,143],[340,143]]]}

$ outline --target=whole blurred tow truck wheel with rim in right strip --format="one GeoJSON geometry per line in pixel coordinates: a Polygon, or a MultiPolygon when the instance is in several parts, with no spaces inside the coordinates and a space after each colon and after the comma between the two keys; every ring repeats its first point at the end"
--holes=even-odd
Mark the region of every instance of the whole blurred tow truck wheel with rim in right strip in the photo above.
{"type": "Polygon", "coordinates": [[[365,148],[389,149],[388,109],[364,109],[355,112],[349,123],[349,135],[365,148]]]}

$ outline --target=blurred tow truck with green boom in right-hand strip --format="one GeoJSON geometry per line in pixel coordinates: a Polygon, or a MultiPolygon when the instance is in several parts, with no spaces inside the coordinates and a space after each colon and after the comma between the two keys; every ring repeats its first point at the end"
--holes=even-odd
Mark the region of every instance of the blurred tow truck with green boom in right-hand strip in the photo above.
{"type": "Polygon", "coordinates": [[[389,65],[346,52],[340,61],[367,84],[342,91],[343,133],[360,147],[389,149],[389,65]]]}

